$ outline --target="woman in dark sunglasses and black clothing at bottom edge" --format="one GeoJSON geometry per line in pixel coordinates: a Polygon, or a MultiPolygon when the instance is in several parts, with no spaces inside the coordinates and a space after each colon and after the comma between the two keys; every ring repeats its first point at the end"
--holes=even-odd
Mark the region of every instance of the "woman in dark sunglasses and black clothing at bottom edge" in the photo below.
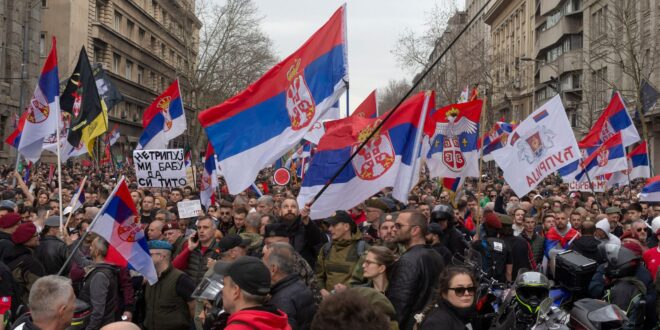
{"type": "Polygon", "coordinates": [[[470,327],[478,283],[465,267],[450,266],[440,276],[438,292],[416,317],[417,329],[463,330],[470,327]]]}

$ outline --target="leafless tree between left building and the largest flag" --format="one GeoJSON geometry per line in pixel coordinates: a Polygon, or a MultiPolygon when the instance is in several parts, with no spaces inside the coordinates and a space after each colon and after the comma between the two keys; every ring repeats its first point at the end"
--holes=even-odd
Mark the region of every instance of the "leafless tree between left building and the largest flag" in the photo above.
{"type": "MultiPolygon", "coordinates": [[[[192,2],[187,2],[192,6],[192,2]]],[[[197,111],[219,104],[257,80],[277,58],[272,42],[261,29],[262,17],[251,0],[227,0],[222,4],[196,0],[194,12],[201,21],[199,34],[185,35],[188,53],[180,70],[188,77],[187,88],[197,111]]],[[[194,19],[185,20],[191,27],[194,19]]],[[[187,29],[194,30],[193,28],[187,29]]],[[[201,137],[196,118],[193,136],[201,137]]],[[[197,150],[203,146],[198,139],[197,150]]]]}

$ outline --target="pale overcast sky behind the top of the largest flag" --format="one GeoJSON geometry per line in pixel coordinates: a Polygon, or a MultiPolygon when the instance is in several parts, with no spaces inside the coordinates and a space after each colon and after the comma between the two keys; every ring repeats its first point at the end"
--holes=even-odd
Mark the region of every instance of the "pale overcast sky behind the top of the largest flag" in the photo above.
{"type": "MultiPolygon", "coordinates": [[[[285,58],[346,1],[254,0],[264,17],[262,27],[274,43],[279,58],[285,58]]],[[[391,79],[405,78],[391,51],[406,28],[422,32],[427,15],[438,3],[462,7],[463,0],[352,0],[346,8],[351,111],[374,89],[391,79]]],[[[345,99],[341,102],[345,113],[345,99]]]]}

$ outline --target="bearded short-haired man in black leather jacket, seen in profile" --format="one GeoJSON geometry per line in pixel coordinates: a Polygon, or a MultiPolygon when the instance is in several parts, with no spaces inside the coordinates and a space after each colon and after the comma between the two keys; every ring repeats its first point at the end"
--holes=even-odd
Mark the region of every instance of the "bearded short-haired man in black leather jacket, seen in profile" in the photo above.
{"type": "Polygon", "coordinates": [[[396,310],[400,329],[413,328],[413,315],[424,308],[444,268],[442,257],[425,247],[427,234],[422,213],[406,210],[396,218],[396,241],[406,246],[406,252],[392,269],[385,295],[396,310]]]}

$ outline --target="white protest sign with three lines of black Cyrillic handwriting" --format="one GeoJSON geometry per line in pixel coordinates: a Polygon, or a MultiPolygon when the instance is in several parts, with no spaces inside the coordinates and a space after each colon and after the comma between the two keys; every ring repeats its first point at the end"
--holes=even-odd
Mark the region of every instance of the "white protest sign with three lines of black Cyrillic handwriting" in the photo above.
{"type": "Polygon", "coordinates": [[[135,150],[133,162],[139,187],[174,188],[188,184],[183,149],[135,150]]]}

